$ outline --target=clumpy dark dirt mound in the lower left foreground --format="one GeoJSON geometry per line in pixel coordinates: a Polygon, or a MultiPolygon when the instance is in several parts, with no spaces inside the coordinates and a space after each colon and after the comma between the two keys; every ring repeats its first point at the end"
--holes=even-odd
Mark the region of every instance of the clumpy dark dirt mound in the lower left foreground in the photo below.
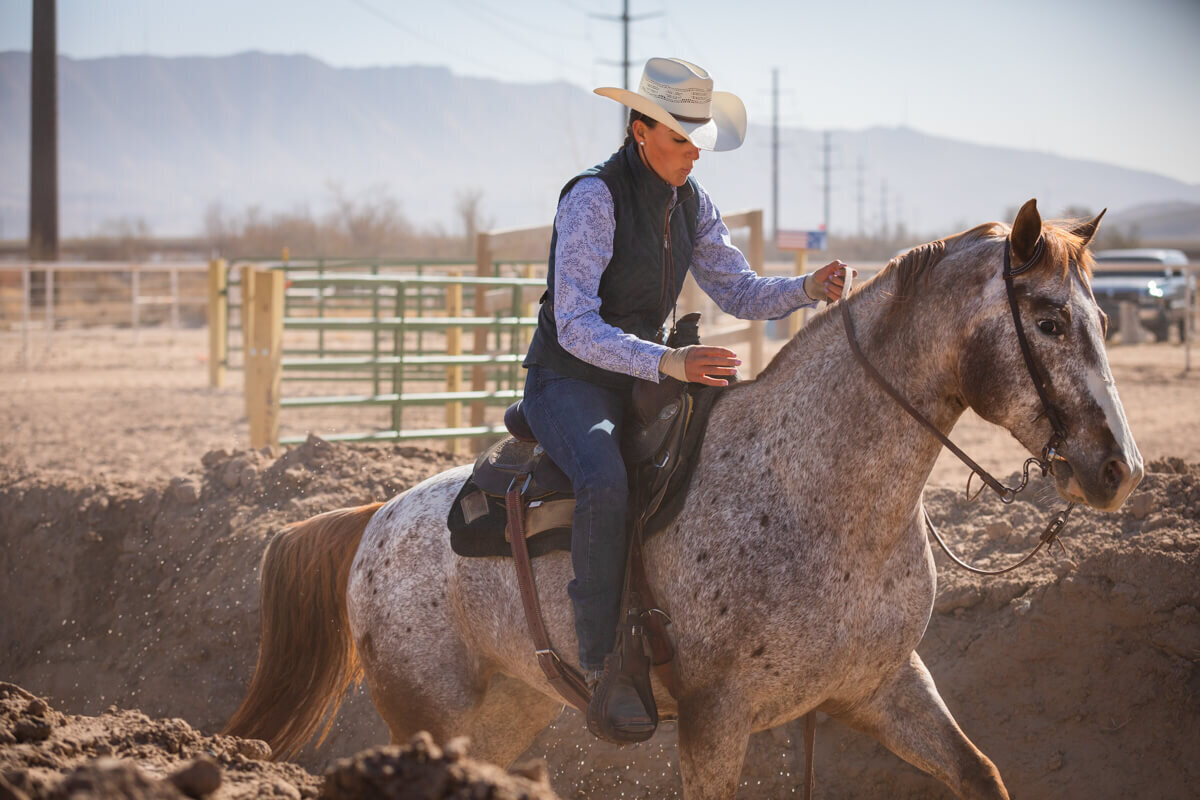
{"type": "Polygon", "coordinates": [[[317,777],[268,760],[266,742],[206,736],[182,720],[151,720],[115,706],[102,716],[55,711],[19,686],[0,682],[0,798],[324,798],[556,800],[546,768],[521,774],[467,757],[468,742],[443,750],[428,734],[338,760],[317,777]]]}

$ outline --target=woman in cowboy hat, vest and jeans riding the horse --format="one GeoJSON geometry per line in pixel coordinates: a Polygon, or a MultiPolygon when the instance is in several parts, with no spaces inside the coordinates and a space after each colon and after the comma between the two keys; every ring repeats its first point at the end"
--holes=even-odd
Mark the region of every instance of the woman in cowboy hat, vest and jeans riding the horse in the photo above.
{"type": "Polygon", "coordinates": [[[572,178],[559,194],[522,408],[575,488],[568,593],[580,666],[593,690],[588,729],[628,740],[654,732],[632,681],[606,658],[625,564],[620,432],[634,379],[670,375],[724,386],[737,373],[740,361],[726,348],[661,343],[689,271],[726,312],[767,319],[841,296],[845,265],[764,278],[730,242],[720,211],[690,174],[701,150],[742,145],[745,107],[732,94],[713,91],[704,70],[650,59],[636,92],[595,91],[631,109],[628,136],[608,161],[572,178]]]}

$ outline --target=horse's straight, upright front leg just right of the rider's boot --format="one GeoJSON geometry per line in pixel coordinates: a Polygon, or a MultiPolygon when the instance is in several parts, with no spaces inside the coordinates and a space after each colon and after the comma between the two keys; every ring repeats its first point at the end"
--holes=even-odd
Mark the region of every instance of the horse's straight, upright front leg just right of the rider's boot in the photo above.
{"type": "Polygon", "coordinates": [[[679,772],[685,800],[733,800],[750,716],[736,692],[690,692],[679,702],[679,772]]]}

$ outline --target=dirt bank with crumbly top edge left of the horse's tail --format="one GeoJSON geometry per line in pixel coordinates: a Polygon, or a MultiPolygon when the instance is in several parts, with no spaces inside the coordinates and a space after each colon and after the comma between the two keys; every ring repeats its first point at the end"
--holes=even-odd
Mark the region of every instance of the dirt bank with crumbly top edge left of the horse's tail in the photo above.
{"type": "MultiPolygon", "coordinates": [[[[271,535],[322,511],[391,497],[446,453],[320,439],[275,457],[212,451],[150,486],[0,464],[0,679],[79,714],[110,704],[218,730],[258,646],[258,563],[271,535]]],[[[366,718],[331,753],[386,741],[366,718]]],[[[319,759],[311,762],[319,765],[319,759]]]]}

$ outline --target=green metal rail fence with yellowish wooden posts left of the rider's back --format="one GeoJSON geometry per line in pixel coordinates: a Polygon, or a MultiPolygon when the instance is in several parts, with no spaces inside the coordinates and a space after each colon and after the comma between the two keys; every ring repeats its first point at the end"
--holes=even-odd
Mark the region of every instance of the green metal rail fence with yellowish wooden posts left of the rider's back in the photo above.
{"type": "MultiPolygon", "coordinates": [[[[337,275],[322,278],[288,279],[278,270],[251,270],[242,275],[247,287],[244,307],[250,312],[245,318],[245,338],[250,343],[246,351],[246,403],[251,427],[251,446],[259,447],[270,444],[293,444],[302,437],[280,438],[280,413],[283,409],[335,407],[335,405],[379,405],[391,409],[391,427],[386,431],[368,433],[338,433],[326,438],[334,440],[413,440],[413,439],[450,439],[464,437],[496,435],[499,428],[492,425],[462,425],[462,404],[464,402],[482,404],[508,404],[520,397],[515,387],[518,371],[521,337],[516,331],[532,329],[536,318],[522,314],[526,290],[538,290],[542,281],[538,278],[475,278],[448,276],[372,276],[337,275]],[[378,293],[384,302],[376,303],[378,313],[370,315],[347,317],[284,317],[284,284],[287,290],[302,289],[355,289],[378,293]],[[427,293],[438,289],[443,297],[442,313],[413,317],[406,313],[403,299],[415,293],[427,293]],[[485,315],[464,315],[463,290],[469,289],[476,299],[482,299],[476,306],[485,315]],[[508,306],[508,313],[502,313],[499,306],[508,306]],[[462,351],[462,331],[482,331],[487,351],[464,354],[462,351]],[[390,337],[391,348],[376,354],[336,355],[325,350],[319,355],[293,357],[287,355],[286,335],[299,332],[358,333],[367,335],[378,341],[379,335],[390,337]],[[433,332],[444,337],[443,353],[428,354],[409,351],[412,335],[433,332]],[[508,339],[506,348],[503,347],[508,339]],[[504,351],[502,351],[504,350],[504,351]],[[484,385],[462,390],[461,371],[464,366],[484,371],[484,385]],[[407,391],[406,381],[410,380],[414,369],[440,369],[440,379],[446,383],[446,391],[407,391]],[[492,369],[488,374],[487,369],[492,369]],[[499,387],[496,371],[508,373],[508,387],[499,387]],[[323,373],[330,379],[334,373],[352,373],[360,378],[368,375],[373,381],[373,391],[354,395],[325,395],[319,397],[283,397],[282,378],[288,371],[305,373],[323,373]],[[488,383],[493,385],[488,385],[488,383]],[[390,384],[391,391],[384,391],[390,384]],[[445,427],[442,428],[406,428],[404,409],[413,405],[444,405],[445,427]]],[[[220,287],[214,279],[212,285],[220,287]]],[[[212,341],[222,339],[214,333],[212,341]]],[[[220,360],[215,353],[214,361],[220,360]]]]}

